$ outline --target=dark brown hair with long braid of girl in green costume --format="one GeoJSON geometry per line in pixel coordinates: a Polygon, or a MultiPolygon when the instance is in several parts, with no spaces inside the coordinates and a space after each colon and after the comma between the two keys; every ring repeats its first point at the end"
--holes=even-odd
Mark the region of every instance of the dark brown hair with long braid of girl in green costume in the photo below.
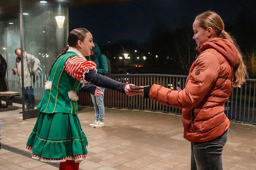
{"type": "MultiPolygon", "coordinates": [[[[68,45],[62,50],[62,52],[54,59],[52,66],[50,68],[49,74],[48,74],[48,78],[46,79],[46,81],[48,81],[49,76],[51,74],[52,71],[52,67],[53,65],[57,62],[58,58],[60,58],[60,56],[66,54],[67,50],[69,47],[76,47],[77,41],[81,40],[83,41],[87,32],[89,32],[87,29],[85,28],[76,28],[73,29],[69,35],[68,35],[68,45]]],[[[45,82],[46,82],[45,81],[45,82]]]]}

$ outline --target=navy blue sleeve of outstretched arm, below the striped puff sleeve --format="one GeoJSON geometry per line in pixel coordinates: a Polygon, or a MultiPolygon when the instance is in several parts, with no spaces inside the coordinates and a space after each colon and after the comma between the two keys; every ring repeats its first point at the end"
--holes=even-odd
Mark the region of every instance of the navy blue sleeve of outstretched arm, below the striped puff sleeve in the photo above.
{"type": "Polygon", "coordinates": [[[84,79],[95,84],[98,87],[109,88],[125,94],[125,83],[117,82],[109,77],[100,75],[93,70],[85,73],[84,79]]]}

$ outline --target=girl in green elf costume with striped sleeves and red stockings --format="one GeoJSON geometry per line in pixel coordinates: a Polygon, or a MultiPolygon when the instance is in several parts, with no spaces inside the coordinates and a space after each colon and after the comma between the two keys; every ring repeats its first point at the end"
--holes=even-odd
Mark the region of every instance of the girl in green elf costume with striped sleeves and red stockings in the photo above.
{"type": "MultiPolygon", "coordinates": [[[[45,94],[37,106],[40,111],[26,149],[32,158],[60,162],[60,169],[78,169],[87,157],[88,141],[77,116],[76,92],[86,81],[129,95],[129,85],[96,73],[96,64],[87,61],[94,47],[89,31],[77,28],[68,36],[68,46],[54,60],[45,82],[45,94]]],[[[97,92],[92,85],[90,91],[97,92]]]]}

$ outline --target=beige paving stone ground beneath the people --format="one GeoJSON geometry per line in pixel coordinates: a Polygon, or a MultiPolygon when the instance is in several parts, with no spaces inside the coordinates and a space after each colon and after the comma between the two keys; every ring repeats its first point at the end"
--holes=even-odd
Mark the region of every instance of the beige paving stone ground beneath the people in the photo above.
{"type": "MultiPolygon", "coordinates": [[[[21,110],[0,112],[1,143],[25,151],[36,119],[22,120],[21,110]]],[[[92,128],[93,107],[78,112],[88,142],[84,170],[190,169],[190,143],[183,138],[181,116],[105,109],[105,126],[92,128]]],[[[224,147],[223,168],[256,169],[256,126],[232,123],[224,147]]],[[[0,150],[0,169],[58,169],[24,155],[0,150]]]]}

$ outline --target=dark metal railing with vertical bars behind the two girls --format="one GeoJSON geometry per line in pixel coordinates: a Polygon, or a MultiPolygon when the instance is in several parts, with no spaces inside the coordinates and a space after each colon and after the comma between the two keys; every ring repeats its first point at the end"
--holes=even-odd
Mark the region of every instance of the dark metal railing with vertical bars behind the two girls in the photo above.
{"type": "MultiPolygon", "coordinates": [[[[138,86],[160,84],[164,87],[176,89],[185,87],[187,76],[165,74],[120,74],[111,75],[111,78],[138,86]]],[[[225,103],[225,114],[231,121],[256,124],[255,92],[256,79],[246,79],[241,88],[232,88],[232,94],[225,103]]],[[[167,106],[159,102],[145,99],[140,95],[127,96],[122,93],[105,89],[104,103],[106,107],[128,108],[137,110],[158,111],[164,113],[181,114],[181,109],[167,106]]],[[[92,106],[91,96],[88,93],[78,93],[78,104],[92,106]]]]}

